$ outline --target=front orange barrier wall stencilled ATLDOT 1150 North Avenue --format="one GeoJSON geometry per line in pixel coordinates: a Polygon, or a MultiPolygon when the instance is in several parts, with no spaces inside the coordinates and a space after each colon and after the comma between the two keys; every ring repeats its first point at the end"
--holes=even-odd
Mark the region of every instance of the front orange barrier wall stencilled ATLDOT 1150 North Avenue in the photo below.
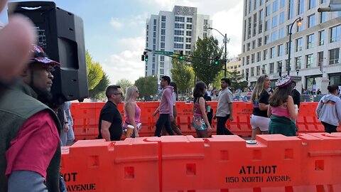
{"type": "Polygon", "coordinates": [[[140,137],[63,147],[68,191],[341,191],[341,133],[140,137]]]}

